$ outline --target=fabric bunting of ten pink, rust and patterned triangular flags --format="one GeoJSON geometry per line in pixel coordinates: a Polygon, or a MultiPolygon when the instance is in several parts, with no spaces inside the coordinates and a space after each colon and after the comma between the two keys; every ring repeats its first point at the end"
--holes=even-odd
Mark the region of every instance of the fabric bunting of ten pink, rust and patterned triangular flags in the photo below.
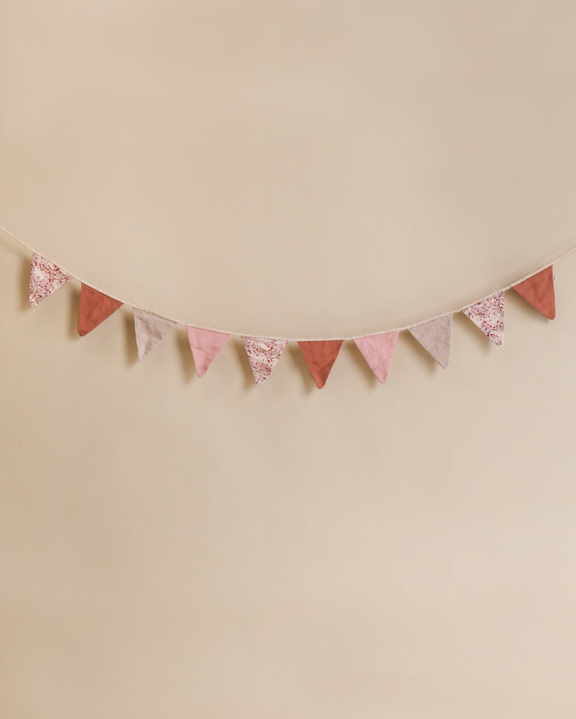
{"type": "MultiPolygon", "coordinates": [[[[18,240],[18,242],[21,241],[18,240]]],[[[25,246],[28,247],[27,245],[25,246]]],[[[29,297],[30,304],[35,307],[54,293],[55,290],[62,287],[68,280],[79,278],[70,275],[70,273],[67,273],[37,252],[33,250],[32,252],[29,297]]],[[[530,275],[525,280],[511,285],[511,288],[516,290],[545,317],[554,319],[556,316],[556,301],[552,265],[530,275]]],[[[82,282],[78,313],[78,334],[84,336],[93,331],[123,305],[124,302],[107,296],[100,290],[96,290],[91,285],[82,282]]],[[[134,312],[134,334],[136,336],[138,359],[142,360],[157,347],[173,327],[180,323],[139,307],[132,307],[132,310],[134,312]]],[[[498,347],[503,345],[504,290],[462,308],[462,312],[494,344],[498,347]]],[[[444,368],[448,366],[450,359],[452,317],[454,313],[456,312],[447,313],[404,328],[444,368]]],[[[198,377],[202,377],[233,335],[195,326],[186,326],[186,331],[188,332],[188,341],[190,342],[196,365],[196,372],[198,377]]],[[[351,338],[380,383],[385,383],[388,379],[400,331],[402,330],[398,329],[383,334],[370,334],[351,338]]],[[[242,337],[254,379],[258,385],[261,385],[270,377],[289,340],[247,335],[239,336],[242,337]]],[[[308,365],[308,369],[319,389],[326,384],[343,342],[344,339],[298,341],[306,365],[308,365]]]]}

